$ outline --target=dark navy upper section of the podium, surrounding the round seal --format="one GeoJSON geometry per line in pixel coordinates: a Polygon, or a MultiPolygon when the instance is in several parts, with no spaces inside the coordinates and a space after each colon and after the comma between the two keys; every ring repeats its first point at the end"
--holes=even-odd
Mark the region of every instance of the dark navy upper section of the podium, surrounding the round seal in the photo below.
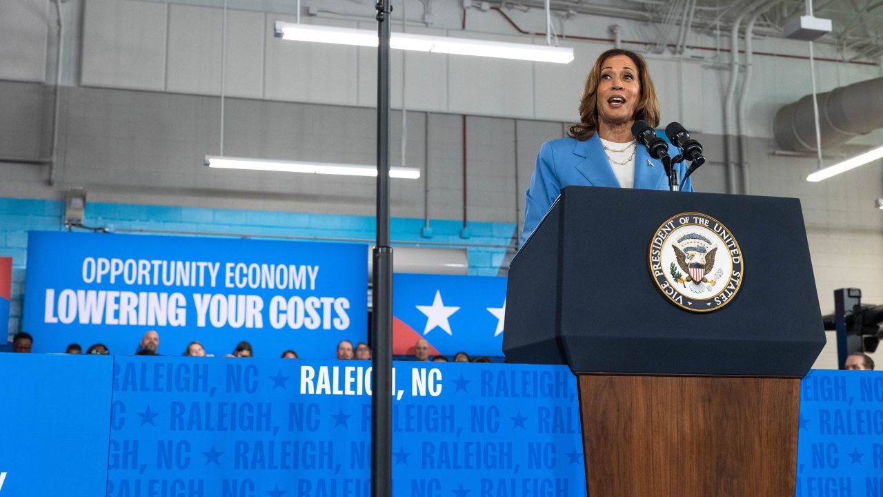
{"type": "Polygon", "coordinates": [[[802,377],[825,345],[793,198],[566,187],[513,259],[507,299],[507,361],[575,373],[802,377]],[[707,312],[675,305],[650,265],[669,228],[697,218],[742,264],[707,312]]]}

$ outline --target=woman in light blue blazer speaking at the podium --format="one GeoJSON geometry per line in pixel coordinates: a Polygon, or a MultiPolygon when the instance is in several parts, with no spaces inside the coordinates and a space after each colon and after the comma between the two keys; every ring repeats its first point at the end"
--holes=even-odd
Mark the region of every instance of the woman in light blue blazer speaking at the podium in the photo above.
{"type": "MultiPolygon", "coordinates": [[[[636,120],[660,124],[660,103],[643,57],[630,50],[607,50],[598,57],[585,79],[579,102],[580,123],[568,136],[540,147],[531,187],[525,201],[525,229],[530,237],[563,187],[645,188],[668,190],[662,163],[650,157],[631,134],[636,120]]],[[[669,155],[677,149],[669,145],[669,155]]],[[[676,166],[683,178],[686,166],[676,166]]],[[[688,178],[684,191],[692,191],[688,178]]]]}

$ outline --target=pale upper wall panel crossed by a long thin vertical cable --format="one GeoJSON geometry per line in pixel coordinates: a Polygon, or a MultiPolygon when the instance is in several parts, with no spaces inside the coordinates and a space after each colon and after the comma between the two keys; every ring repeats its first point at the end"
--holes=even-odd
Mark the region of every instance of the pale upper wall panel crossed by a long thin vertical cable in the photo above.
{"type": "MultiPolygon", "coordinates": [[[[227,96],[262,96],[263,29],[261,12],[227,11],[227,96]]],[[[222,9],[170,5],[167,89],[219,95],[222,42],[222,9]]]]}

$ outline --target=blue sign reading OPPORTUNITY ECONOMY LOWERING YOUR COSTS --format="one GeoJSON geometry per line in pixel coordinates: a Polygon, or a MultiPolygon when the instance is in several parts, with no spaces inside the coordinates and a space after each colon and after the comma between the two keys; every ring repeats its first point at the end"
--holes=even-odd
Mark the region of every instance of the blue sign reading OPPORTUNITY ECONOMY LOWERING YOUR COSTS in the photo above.
{"type": "Polygon", "coordinates": [[[367,333],[366,247],[295,241],[31,232],[24,329],[35,352],[102,342],[134,354],[141,335],[178,356],[238,341],[254,355],[335,356],[367,333]]]}

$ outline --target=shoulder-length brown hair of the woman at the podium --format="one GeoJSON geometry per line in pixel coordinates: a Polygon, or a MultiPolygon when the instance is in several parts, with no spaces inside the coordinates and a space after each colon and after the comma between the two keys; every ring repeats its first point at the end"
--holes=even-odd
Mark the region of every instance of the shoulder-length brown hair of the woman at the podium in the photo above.
{"type": "Polygon", "coordinates": [[[598,131],[598,83],[601,80],[601,69],[608,58],[618,55],[629,57],[638,66],[638,83],[641,85],[641,99],[638,101],[638,105],[635,106],[635,114],[632,118],[636,121],[644,120],[653,127],[659,126],[660,100],[656,96],[656,88],[653,87],[653,80],[650,79],[650,71],[647,69],[644,57],[631,50],[611,49],[602,53],[595,60],[592,70],[589,71],[589,75],[585,78],[583,97],[579,100],[579,124],[570,126],[568,136],[579,141],[585,141],[598,131]]]}

